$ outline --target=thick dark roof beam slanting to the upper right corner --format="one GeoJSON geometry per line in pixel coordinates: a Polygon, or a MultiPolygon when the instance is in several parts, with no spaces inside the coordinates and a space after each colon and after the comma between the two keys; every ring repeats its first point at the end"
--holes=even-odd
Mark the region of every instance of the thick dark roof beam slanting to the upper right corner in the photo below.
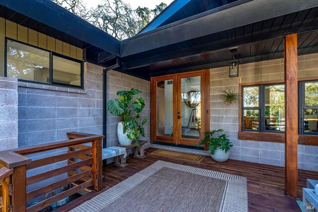
{"type": "Polygon", "coordinates": [[[318,0],[239,0],[121,42],[121,57],[318,6],[318,0]],[[244,2],[239,4],[239,2],[244,2]]]}

